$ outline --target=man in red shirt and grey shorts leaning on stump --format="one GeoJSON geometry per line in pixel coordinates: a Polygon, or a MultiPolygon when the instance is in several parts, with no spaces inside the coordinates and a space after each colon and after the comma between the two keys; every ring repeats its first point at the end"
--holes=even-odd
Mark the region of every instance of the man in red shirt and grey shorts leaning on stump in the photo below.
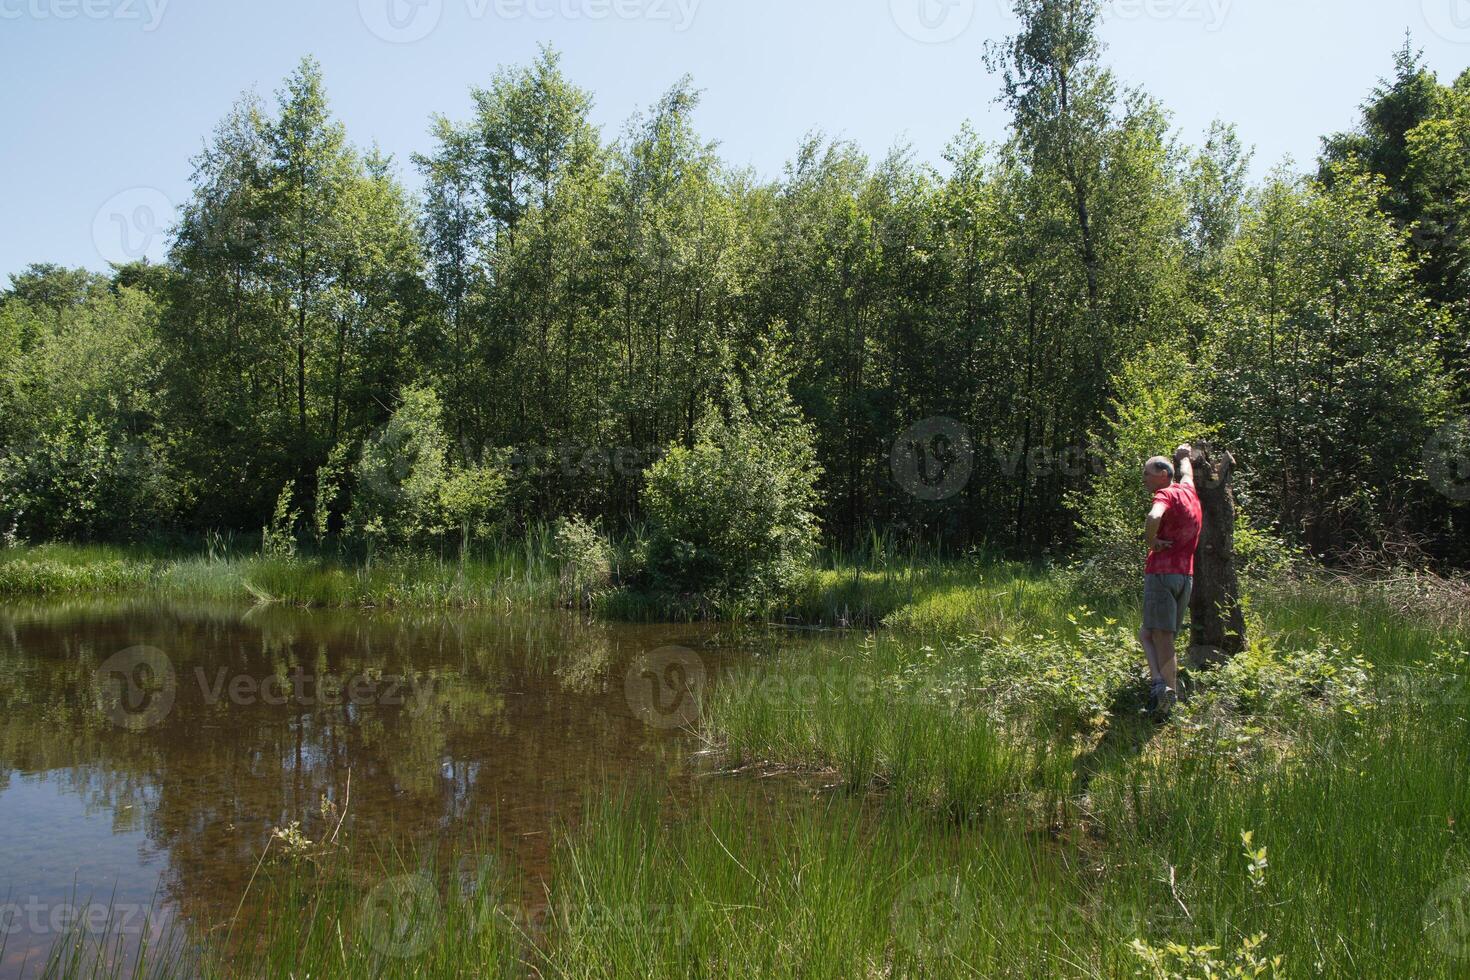
{"type": "Polygon", "coordinates": [[[1200,495],[1194,485],[1194,450],[1182,445],[1170,463],[1155,455],[1144,464],[1144,486],[1154,495],[1148,511],[1148,564],[1144,567],[1144,629],[1138,642],[1154,679],[1150,711],[1167,716],[1179,701],[1175,638],[1185,627],[1194,592],[1194,554],[1200,547],[1200,495]],[[1179,482],[1175,482],[1177,467],[1179,482]]]}

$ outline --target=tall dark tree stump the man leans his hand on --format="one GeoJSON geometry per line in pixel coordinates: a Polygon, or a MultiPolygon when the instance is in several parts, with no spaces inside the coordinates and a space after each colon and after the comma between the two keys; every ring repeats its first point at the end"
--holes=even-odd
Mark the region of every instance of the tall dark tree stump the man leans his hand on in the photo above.
{"type": "Polygon", "coordinates": [[[1195,552],[1188,660],[1191,666],[1208,667],[1245,649],[1241,579],[1235,570],[1235,495],[1230,492],[1235,457],[1201,445],[1195,447],[1192,461],[1204,529],[1195,552]]]}

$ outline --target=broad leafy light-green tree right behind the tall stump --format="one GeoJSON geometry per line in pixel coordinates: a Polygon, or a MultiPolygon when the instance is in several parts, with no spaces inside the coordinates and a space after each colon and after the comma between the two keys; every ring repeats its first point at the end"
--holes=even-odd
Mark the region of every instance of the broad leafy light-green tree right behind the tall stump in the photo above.
{"type": "Polygon", "coordinates": [[[1247,505],[1317,552],[1417,525],[1419,461],[1448,407],[1439,314],[1380,197],[1347,167],[1330,187],[1274,176],[1230,251],[1210,339],[1210,416],[1247,505]]]}

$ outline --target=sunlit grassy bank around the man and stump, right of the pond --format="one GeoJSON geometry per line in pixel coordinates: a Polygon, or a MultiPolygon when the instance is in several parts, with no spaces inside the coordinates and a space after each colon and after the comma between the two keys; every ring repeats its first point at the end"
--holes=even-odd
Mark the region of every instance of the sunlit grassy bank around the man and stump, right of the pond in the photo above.
{"type": "Polygon", "coordinates": [[[1075,848],[1083,905],[1141,926],[1035,976],[1126,976],[1130,954],[1220,976],[1207,961],[1257,956],[1261,934],[1283,974],[1463,976],[1470,638],[1442,598],[1396,579],[1258,586],[1252,648],[1188,673],[1166,724],[1141,714],[1130,624],[1058,610],[1035,635],[879,635],[757,664],[714,692],[706,735],[732,767],[831,773],[976,845],[1000,823],[1075,848]]]}

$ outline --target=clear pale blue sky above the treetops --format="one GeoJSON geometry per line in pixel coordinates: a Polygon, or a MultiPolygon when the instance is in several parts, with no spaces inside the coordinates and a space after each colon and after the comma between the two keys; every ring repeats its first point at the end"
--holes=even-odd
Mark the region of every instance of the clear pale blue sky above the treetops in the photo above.
{"type": "MultiPolygon", "coordinates": [[[[1470,65],[1470,0],[1107,10],[1119,75],[1191,140],[1238,123],[1258,173],[1349,126],[1405,29],[1442,79],[1470,65]]],[[[725,159],[775,176],[814,128],[933,162],[964,119],[1001,138],[980,50],[1011,28],[1005,0],[0,0],[0,282],[31,262],[104,269],[119,248],[159,259],[163,237],[137,229],[187,198],[190,157],[235,97],[270,97],[307,53],[351,140],[394,154],[412,188],[429,113],[463,118],[470,85],[541,43],[592,90],[604,135],[688,72],[725,159]]]]}

